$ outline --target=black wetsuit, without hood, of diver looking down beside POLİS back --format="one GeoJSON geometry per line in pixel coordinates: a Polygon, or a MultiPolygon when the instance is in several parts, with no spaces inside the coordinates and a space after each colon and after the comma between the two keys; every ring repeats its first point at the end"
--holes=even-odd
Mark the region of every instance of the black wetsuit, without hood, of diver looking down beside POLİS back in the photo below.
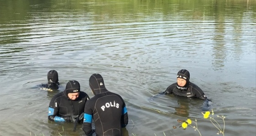
{"type": "Polygon", "coordinates": [[[52,121],[71,121],[72,115],[84,112],[85,103],[90,99],[85,92],[80,92],[75,100],[68,98],[66,90],[53,96],[48,110],[48,119],[52,121]]]}

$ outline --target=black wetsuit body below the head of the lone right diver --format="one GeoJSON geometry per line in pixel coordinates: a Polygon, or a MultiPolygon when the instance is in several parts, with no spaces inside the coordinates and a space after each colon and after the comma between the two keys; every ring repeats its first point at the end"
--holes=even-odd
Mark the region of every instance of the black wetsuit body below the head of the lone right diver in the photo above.
{"type": "Polygon", "coordinates": [[[196,97],[199,99],[207,99],[205,94],[203,93],[202,89],[200,89],[196,84],[189,82],[187,86],[187,90],[181,90],[177,88],[177,83],[171,84],[163,94],[175,94],[179,96],[186,96],[186,97],[196,97]]]}

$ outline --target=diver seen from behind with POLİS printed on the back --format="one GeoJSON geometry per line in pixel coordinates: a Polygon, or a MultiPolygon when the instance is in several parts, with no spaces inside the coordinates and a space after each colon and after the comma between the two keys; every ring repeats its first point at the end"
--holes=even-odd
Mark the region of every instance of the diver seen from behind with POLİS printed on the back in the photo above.
{"type": "Polygon", "coordinates": [[[85,104],[83,131],[91,136],[92,119],[96,136],[123,136],[122,127],[128,124],[128,113],[123,98],[105,88],[100,74],[92,74],[90,88],[95,95],[85,104]]]}

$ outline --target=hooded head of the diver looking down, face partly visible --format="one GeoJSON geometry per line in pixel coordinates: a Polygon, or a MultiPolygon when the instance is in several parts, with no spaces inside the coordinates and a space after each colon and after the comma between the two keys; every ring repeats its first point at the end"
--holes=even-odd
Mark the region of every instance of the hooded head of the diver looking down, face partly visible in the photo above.
{"type": "Polygon", "coordinates": [[[66,89],[64,90],[64,94],[69,99],[75,100],[79,97],[80,94],[80,84],[76,80],[70,80],[67,85],[66,89]]]}

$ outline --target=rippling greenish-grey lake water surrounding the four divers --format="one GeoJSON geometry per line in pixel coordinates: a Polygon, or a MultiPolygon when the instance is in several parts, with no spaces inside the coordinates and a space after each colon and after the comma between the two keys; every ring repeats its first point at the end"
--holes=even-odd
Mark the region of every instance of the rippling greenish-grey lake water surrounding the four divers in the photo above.
{"type": "Polygon", "coordinates": [[[256,0],[0,0],[0,136],[83,136],[82,125],[47,119],[58,91],[38,84],[51,69],[59,91],[77,80],[90,97],[101,73],[125,99],[124,136],[199,136],[173,129],[187,118],[216,136],[202,100],[149,99],[182,68],[226,117],[225,136],[255,136],[256,0]]]}

